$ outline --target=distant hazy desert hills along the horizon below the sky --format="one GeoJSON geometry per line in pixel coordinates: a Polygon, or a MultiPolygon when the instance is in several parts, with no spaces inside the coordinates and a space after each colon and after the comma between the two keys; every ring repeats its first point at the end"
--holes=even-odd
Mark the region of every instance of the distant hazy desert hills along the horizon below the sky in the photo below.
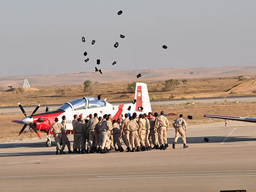
{"type": "Polygon", "coordinates": [[[218,68],[172,68],[147,69],[140,71],[103,71],[103,75],[96,72],[78,72],[58,75],[26,75],[0,77],[0,86],[21,86],[23,79],[27,78],[32,87],[52,85],[75,85],[89,79],[103,82],[132,82],[134,80],[166,80],[166,79],[206,79],[231,78],[239,75],[255,76],[256,66],[228,66],[218,68]],[[142,78],[136,75],[141,73],[142,78]]]}

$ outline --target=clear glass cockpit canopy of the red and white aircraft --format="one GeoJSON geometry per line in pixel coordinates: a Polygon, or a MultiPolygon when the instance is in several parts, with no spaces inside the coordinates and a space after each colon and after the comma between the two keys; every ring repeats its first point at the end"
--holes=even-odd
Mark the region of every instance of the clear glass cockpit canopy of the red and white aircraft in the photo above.
{"type": "Polygon", "coordinates": [[[78,99],[70,100],[64,103],[59,110],[64,110],[65,112],[70,112],[72,110],[81,109],[92,109],[96,107],[105,107],[106,102],[102,99],[98,100],[96,97],[80,97],[78,99]]]}

